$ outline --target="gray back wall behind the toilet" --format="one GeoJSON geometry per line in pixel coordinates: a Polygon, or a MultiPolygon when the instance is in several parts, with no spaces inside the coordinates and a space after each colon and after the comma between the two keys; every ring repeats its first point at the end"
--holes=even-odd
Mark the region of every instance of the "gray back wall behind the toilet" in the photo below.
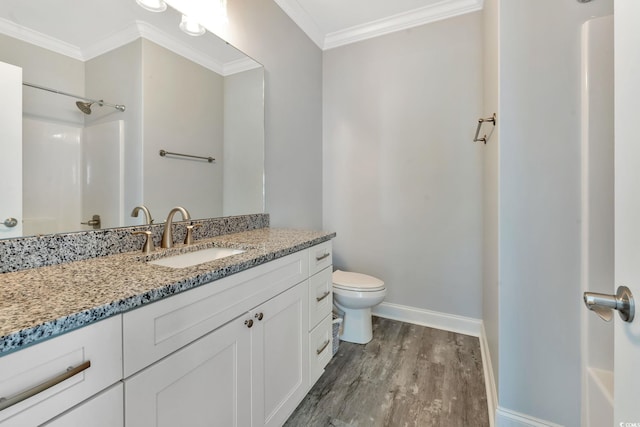
{"type": "Polygon", "coordinates": [[[324,52],[324,227],[386,301],[482,316],[482,14],[324,52]]]}

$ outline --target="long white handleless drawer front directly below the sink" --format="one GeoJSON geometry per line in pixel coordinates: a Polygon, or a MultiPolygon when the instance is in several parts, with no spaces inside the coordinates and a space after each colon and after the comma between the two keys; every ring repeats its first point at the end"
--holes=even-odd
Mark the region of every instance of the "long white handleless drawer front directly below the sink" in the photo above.
{"type": "Polygon", "coordinates": [[[308,256],[296,252],[125,313],[125,378],[305,280],[308,256]]]}

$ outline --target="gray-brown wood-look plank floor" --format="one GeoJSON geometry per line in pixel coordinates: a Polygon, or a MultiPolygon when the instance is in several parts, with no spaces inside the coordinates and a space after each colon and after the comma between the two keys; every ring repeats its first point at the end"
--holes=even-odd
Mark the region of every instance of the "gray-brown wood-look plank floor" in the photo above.
{"type": "Polygon", "coordinates": [[[489,426],[480,342],[374,317],[373,340],[341,342],[285,426],[489,426]]]}

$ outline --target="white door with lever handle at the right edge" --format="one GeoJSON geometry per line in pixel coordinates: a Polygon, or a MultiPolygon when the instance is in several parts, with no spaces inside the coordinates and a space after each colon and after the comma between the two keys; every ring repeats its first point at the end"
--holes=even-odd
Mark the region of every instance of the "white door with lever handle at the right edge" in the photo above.
{"type": "MultiPolygon", "coordinates": [[[[615,0],[615,281],[640,297],[640,2],[615,0]]],[[[640,313],[615,316],[614,426],[640,426],[640,313]]]]}

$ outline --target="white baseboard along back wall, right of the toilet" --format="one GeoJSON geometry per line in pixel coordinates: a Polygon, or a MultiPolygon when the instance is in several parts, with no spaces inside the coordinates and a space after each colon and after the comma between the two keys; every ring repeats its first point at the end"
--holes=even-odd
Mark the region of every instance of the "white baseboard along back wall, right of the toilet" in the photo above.
{"type": "Polygon", "coordinates": [[[464,335],[480,337],[482,320],[472,317],[456,316],[454,314],[409,307],[406,305],[383,302],[371,310],[374,316],[399,320],[415,325],[428,326],[464,335]]]}

